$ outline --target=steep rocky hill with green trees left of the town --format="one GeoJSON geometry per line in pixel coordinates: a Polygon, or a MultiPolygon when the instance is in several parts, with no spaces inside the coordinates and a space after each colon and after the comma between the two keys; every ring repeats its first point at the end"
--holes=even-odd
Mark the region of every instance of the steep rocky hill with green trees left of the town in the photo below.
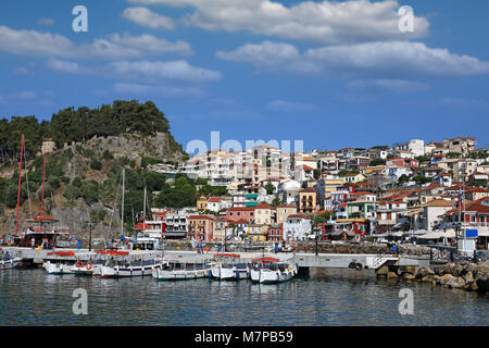
{"type": "MultiPolygon", "coordinates": [[[[101,126],[93,134],[85,133],[89,135],[87,140],[80,136],[84,130],[78,129],[84,122],[78,125],[68,122],[71,117],[73,121],[73,117],[79,116],[79,109],[65,109],[53,115],[50,122],[40,124],[35,119],[33,121],[33,116],[15,117],[10,122],[0,121],[0,125],[11,128],[10,136],[5,137],[3,134],[0,139],[3,141],[0,142],[0,153],[2,153],[0,233],[12,233],[15,228],[18,163],[15,160],[14,149],[20,145],[20,134],[25,135],[27,158],[25,166],[23,165],[21,189],[22,228],[26,227],[26,219],[40,214],[42,183],[40,147],[41,140],[46,139],[43,136],[48,134],[57,142],[58,149],[46,156],[45,215],[59,219],[62,225],[68,226],[72,234],[80,239],[86,239],[89,221],[96,223],[95,237],[115,235],[121,222],[121,173],[125,167],[125,227],[130,231],[133,212],[142,211],[145,185],[151,203],[154,199],[152,191],[160,190],[165,183],[163,174],[146,171],[146,164],[158,162],[176,164],[186,154],[170,133],[170,125],[164,114],[155,109],[153,103],[115,101],[114,105],[120,109],[124,109],[123,107],[133,109],[130,117],[137,122],[130,120],[127,113],[123,113],[123,116],[113,116],[111,122],[105,123],[105,129],[101,126]],[[61,126],[60,117],[64,120],[64,127],[61,126]],[[122,126],[121,123],[123,123],[122,126]],[[36,124],[39,133],[35,132],[36,124]],[[14,127],[17,129],[13,130],[14,127]],[[108,132],[109,128],[112,130],[108,132]],[[18,144],[13,139],[16,136],[18,144]],[[37,151],[33,145],[38,146],[37,151]]],[[[100,109],[106,108],[104,105],[100,109]]],[[[110,114],[114,110],[116,110],[115,107],[111,112],[108,110],[105,112],[110,114]]],[[[84,114],[92,113],[96,111],[84,109],[84,114]]]]}

